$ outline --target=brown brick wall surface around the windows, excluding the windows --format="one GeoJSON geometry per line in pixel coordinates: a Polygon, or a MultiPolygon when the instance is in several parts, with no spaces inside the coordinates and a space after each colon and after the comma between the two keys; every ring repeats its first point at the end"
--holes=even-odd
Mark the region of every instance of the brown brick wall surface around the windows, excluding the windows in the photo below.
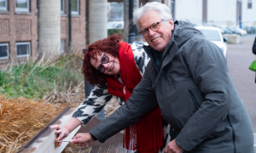
{"type": "MultiPolygon", "coordinates": [[[[38,41],[38,15],[36,0],[30,0],[29,12],[15,11],[15,0],[8,0],[8,10],[0,10],[0,44],[9,43],[9,56],[16,56],[16,42],[31,43],[31,57],[36,58],[38,41]]],[[[65,52],[68,52],[68,0],[65,0],[65,14],[61,14],[61,40],[65,40],[65,52]]],[[[85,45],[85,1],[79,1],[79,14],[72,16],[73,51],[82,52],[85,45]]],[[[9,59],[0,59],[2,63],[9,59]]]]}

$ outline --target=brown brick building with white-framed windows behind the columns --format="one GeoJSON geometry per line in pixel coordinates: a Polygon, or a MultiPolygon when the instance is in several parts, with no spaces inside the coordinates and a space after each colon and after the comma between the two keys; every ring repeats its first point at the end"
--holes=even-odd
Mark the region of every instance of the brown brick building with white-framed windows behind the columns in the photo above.
{"type": "MultiPolygon", "coordinates": [[[[36,58],[37,0],[0,0],[0,65],[36,58]]],[[[68,52],[68,0],[61,0],[61,52],[68,52]]],[[[73,50],[85,48],[85,0],[72,0],[73,50]]]]}

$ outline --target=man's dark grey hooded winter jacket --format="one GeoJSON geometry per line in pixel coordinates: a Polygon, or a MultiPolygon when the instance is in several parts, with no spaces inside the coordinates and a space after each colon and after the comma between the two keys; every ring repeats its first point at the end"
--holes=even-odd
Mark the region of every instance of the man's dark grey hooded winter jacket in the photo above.
{"type": "MultiPolygon", "coordinates": [[[[175,22],[172,35],[160,71],[150,60],[131,98],[90,133],[104,142],[160,105],[184,152],[253,153],[252,123],[221,49],[183,21],[175,22]]],[[[154,49],[144,49],[152,59],[154,49]]]]}

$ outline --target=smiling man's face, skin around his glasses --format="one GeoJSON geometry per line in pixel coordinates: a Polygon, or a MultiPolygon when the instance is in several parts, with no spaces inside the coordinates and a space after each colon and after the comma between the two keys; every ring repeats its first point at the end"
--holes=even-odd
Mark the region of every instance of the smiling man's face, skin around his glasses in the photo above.
{"type": "MultiPolygon", "coordinates": [[[[160,22],[159,13],[155,10],[149,11],[139,20],[140,30],[143,28],[148,28],[155,22],[160,22]]],[[[163,52],[166,48],[167,43],[172,37],[172,30],[174,29],[172,20],[168,20],[168,26],[164,22],[160,22],[160,28],[158,31],[152,31],[150,28],[148,29],[148,36],[144,36],[145,40],[148,42],[151,48],[159,52],[163,52]]]]}

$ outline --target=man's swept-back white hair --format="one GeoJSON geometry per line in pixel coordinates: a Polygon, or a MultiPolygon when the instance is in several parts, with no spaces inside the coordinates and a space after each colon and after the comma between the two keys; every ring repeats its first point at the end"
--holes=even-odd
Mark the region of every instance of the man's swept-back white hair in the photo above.
{"type": "Polygon", "coordinates": [[[137,26],[137,29],[141,31],[141,27],[139,26],[139,20],[143,16],[143,14],[148,13],[149,11],[155,10],[159,13],[159,17],[161,20],[171,20],[172,13],[171,9],[166,6],[166,4],[152,2],[146,3],[141,8],[136,8],[133,11],[133,23],[137,26]]]}

